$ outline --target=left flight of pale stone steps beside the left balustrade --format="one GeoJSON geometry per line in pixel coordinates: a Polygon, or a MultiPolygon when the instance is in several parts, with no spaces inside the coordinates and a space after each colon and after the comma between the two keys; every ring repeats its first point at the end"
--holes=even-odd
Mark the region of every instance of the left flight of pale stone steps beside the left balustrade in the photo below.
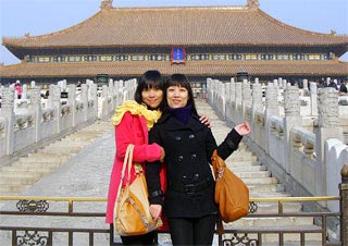
{"type": "Polygon", "coordinates": [[[0,196],[20,195],[111,128],[110,122],[98,121],[1,167],[0,196]]]}

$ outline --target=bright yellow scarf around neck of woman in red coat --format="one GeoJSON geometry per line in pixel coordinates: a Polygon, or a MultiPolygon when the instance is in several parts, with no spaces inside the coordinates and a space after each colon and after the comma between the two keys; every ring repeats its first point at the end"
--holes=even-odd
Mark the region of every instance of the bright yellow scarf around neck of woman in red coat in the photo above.
{"type": "Polygon", "coordinates": [[[133,115],[142,115],[148,130],[150,130],[161,116],[160,110],[149,110],[146,104],[139,104],[136,101],[128,100],[116,108],[115,114],[111,118],[112,123],[119,125],[125,112],[130,112],[133,115]]]}

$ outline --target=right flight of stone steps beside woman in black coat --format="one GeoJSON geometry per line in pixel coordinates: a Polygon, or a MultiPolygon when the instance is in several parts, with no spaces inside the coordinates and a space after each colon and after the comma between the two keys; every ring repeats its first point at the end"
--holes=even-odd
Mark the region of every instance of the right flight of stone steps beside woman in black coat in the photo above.
{"type": "MultiPolygon", "coordinates": [[[[211,110],[207,103],[197,101],[197,109],[200,114],[209,116],[212,132],[220,144],[223,142],[231,128],[225,122],[221,121],[219,116],[211,110]]],[[[289,197],[290,195],[285,192],[283,184],[278,183],[276,177],[272,176],[272,172],[262,165],[248,147],[240,143],[238,150],[226,159],[227,167],[239,176],[249,187],[251,198],[273,198],[273,197],[289,197]]],[[[302,206],[300,202],[285,202],[283,205],[284,212],[301,212],[302,206]]],[[[278,211],[277,202],[257,202],[258,213],[276,213],[278,211]]],[[[225,223],[225,229],[231,230],[258,230],[286,227],[287,230],[303,230],[316,229],[313,224],[312,217],[284,217],[284,218],[243,218],[232,223],[225,223]]],[[[240,237],[244,236],[239,235],[240,237]]],[[[225,234],[225,238],[232,238],[233,235],[225,234]]],[[[257,234],[248,234],[249,238],[258,238],[257,234]]],[[[285,234],[285,245],[299,245],[299,234],[285,234]]],[[[278,234],[262,235],[262,245],[277,245],[278,234]]],[[[306,234],[306,245],[322,245],[321,234],[306,234]]]]}

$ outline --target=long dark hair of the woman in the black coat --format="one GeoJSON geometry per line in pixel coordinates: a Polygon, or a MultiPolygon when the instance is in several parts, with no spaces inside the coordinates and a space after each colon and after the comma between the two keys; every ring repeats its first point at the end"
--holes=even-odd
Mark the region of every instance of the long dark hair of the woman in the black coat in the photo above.
{"type": "MultiPolygon", "coordinates": [[[[176,74],[172,74],[165,82],[165,97],[166,97],[166,89],[171,86],[178,86],[178,87],[184,87],[185,89],[187,89],[188,91],[188,100],[187,100],[187,104],[191,106],[191,112],[196,115],[198,115],[197,113],[197,109],[196,109],[196,103],[195,103],[195,98],[194,98],[194,91],[192,88],[189,84],[188,78],[181,73],[176,73],[176,74]]],[[[165,103],[167,104],[166,100],[165,103]]]]}

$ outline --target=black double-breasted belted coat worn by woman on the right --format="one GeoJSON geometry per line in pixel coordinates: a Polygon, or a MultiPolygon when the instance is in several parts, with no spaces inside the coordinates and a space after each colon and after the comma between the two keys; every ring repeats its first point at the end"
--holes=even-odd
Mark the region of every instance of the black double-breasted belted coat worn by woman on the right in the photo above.
{"type": "MultiPolygon", "coordinates": [[[[199,218],[217,212],[211,156],[217,147],[219,156],[226,159],[240,140],[241,136],[232,130],[217,147],[211,130],[196,115],[184,125],[167,113],[154,124],[149,142],[165,149],[164,214],[167,218],[199,218]]],[[[159,170],[159,161],[147,163],[146,177],[150,202],[163,205],[159,170]]]]}

